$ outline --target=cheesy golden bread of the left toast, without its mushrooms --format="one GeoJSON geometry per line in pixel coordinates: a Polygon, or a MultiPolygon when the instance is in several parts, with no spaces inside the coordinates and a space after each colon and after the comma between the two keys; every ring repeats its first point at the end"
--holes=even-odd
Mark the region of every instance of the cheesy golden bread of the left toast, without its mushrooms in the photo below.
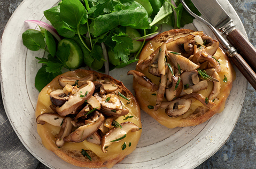
{"type": "MultiPolygon", "coordinates": [[[[95,80],[108,79],[110,82],[113,82],[115,85],[118,85],[120,90],[122,91],[122,94],[125,95],[128,99],[130,99],[130,103],[125,104],[126,108],[129,109],[129,114],[127,116],[131,116],[131,114],[132,116],[134,116],[134,118],[129,118],[128,120],[126,120],[126,122],[130,120],[131,122],[135,123],[138,127],[142,127],[141,115],[140,115],[140,109],[139,109],[138,103],[135,100],[133,94],[122,84],[122,82],[108,75],[100,74],[95,71],[82,70],[82,69],[75,70],[75,71],[68,71],[63,75],[69,76],[69,77],[83,78],[89,74],[94,74],[95,80]]],[[[58,78],[59,76],[53,79],[53,81],[50,82],[47,86],[45,86],[43,90],[40,92],[40,94],[38,95],[36,117],[40,114],[43,114],[44,112],[52,112],[52,110],[49,108],[49,104],[51,104],[49,93],[53,90],[57,90],[58,88],[62,88],[58,83],[58,78]]],[[[120,99],[122,102],[124,102],[123,100],[125,100],[122,98],[120,99]]],[[[123,119],[123,116],[120,117],[119,120],[122,121],[122,119],[123,119]]],[[[118,162],[120,162],[123,158],[125,158],[125,156],[127,156],[128,154],[130,154],[132,151],[135,150],[142,132],[142,131],[138,131],[133,133],[131,132],[127,133],[127,136],[123,141],[111,144],[111,146],[108,147],[108,151],[104,154],[100,149],[100,146],[87,142],[86,140],[80,143],[65,143],[63,147],[58,148],[55,144],[55,135],[59,132],[59,129],[60,127],[52,126],[48,123],[46,123],[45,125],[37,124],[37,132],[41,136],[43,145],[47,149],[55,152],[57,156],[59,156],[61,159],[65,160],[70,164],[80,166],[80,167],[94,167],[94,168],[112,167],[114,164],[117,164],[118,162]],[[122,151],[121,146],[123,142],[128,142],[128,143],[132,142],[131,147],[128,148],[127,146],[127,148],[122,151]],[[113,150],[110,149],[111,147],[113,148],[113,150]],[[91,161],[87,157],[84,157],[81,154],[81,149],[86,150],[86,152],[92,158],[91,161]],[[115,149],[118,149],[118,150],[115,150],[115,149]],[[97,156],[97,154],[100,157],[97,156]]]]}

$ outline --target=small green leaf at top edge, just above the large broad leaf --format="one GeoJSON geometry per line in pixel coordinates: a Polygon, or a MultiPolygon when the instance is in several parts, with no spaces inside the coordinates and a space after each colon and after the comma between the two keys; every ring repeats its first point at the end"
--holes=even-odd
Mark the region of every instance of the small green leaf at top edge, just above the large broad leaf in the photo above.
{"type": "Polygon", "coordinates": [[[110,13],[113,11],[114,6],[112,0],[99,0],[99,3],[96,5],[96,10],[94,11],[94,17],[98,17],[103,13],[110,13]]]}

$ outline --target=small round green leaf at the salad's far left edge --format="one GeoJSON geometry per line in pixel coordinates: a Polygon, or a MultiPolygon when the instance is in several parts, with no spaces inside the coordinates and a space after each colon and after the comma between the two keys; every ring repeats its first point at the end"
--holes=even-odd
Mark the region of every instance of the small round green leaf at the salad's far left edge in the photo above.
{"type": "Polygon", "coordinates": [[[45,47],[44,37],[41,31],[28,29],[22,34],[23,44],[32,51],[38,51],[45,47]]]}

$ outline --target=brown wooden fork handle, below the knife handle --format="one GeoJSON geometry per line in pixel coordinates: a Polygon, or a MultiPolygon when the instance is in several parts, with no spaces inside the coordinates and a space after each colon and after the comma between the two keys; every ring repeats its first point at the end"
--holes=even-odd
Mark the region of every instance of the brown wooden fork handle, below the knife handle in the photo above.
{"type": "Polygon", "coordinates": [[[234,57],[229,58],[234,65],[241,71],[247,81],[256,90],[256,74],[252,68],[245,62],[240,54],[235,54],[234,57]]]}

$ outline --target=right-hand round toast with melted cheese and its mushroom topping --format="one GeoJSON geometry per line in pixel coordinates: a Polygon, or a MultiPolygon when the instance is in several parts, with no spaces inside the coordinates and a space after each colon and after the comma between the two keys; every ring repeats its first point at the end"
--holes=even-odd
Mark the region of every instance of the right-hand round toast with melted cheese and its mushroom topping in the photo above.
{"type": "Polygon", "coordinates": [[[218,41],[203,31],[189,29],[169,30],[151,39],[141,52],[136,71],[128,74],[137,74],[133,87],[141,109],[168,128],[198,125],[221,112],[236,76],[218,41]],[[192,72],[196,72],[193,81],[192,72]],[[191,84],[184,78],[186,73],[191,84]],[[179,83],[174,76],[180,78],[179,83]],[[199,82],[205,86],[198,88],[199,82]]]}

